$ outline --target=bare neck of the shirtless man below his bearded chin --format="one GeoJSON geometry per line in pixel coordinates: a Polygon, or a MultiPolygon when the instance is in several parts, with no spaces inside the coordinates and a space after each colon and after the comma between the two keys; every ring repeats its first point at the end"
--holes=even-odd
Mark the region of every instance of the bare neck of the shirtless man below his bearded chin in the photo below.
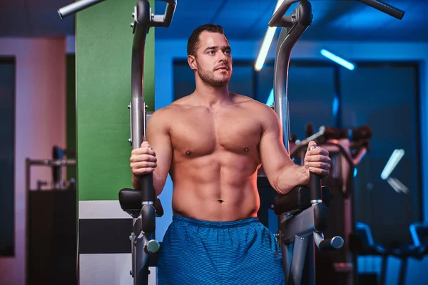
{"type": "Polygon", "coordinates": [[[213,108],[216,105],[232,102],[227,85],[215,87],[206,83],[198,84],[193,94],[198,98],[198,105],[203,105],[206,108],[213,108]]]}

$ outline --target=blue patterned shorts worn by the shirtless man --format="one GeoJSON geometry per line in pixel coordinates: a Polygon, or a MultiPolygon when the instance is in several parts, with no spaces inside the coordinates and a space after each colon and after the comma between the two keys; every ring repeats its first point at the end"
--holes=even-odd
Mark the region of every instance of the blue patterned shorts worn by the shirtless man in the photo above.
{"type": "Polygon", "coordinates": [[[208,222],[173,216],[160,249],[158,284],[285,284],[280,247],[258,218],[208,222]]]}

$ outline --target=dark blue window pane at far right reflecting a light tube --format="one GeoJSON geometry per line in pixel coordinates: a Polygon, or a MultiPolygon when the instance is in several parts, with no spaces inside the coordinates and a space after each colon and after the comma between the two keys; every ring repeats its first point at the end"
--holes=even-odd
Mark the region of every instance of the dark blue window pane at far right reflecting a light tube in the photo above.
{"type": "Polygon", "coordinates": [[[420,216],[417,70],[359,65],[342,68],[340,79],[342,125],[369,125],[373,133],[371,151],[357,167],[355,218],[370,225],[376,242],[411,242],[409,224],[420,216]],[[404,156],[389,180],[382,179],[396,149],[404,156]]]}

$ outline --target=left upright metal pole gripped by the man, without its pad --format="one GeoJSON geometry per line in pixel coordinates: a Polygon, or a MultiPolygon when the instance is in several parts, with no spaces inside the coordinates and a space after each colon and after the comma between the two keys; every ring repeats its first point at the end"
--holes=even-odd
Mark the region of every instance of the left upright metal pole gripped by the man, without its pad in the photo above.
{"type": "MultiPolygon", "coordinates": [[[[133,149],[141,147],[146,140],[146,103],[144,101],[144,50],[146,36],[152,26],[168,27],[173,19],[175,0],[167,2],[163,15],[151,14],[148,0],[138,0],[133,17],[133,46],[131,63],[131,145],[133,149]]],[[[141,176],[139,190],[141,190],[141,216],[134,223],[134,238],[136,249],[132,259],[134,284],[148,284],[148,259],[151,254],[158,252],[159,242],[155,240],[156,232],[156,199],[153,187],[153,173],[141,176]]],[[[134,241],[133,241],[134,242],[134,241]]]]}

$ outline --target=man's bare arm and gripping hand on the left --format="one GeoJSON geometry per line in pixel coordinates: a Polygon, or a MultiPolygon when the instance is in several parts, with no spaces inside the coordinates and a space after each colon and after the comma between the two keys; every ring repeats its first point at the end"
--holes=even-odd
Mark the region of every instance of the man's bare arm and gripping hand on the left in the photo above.
{"type": "MultiPolygon", "coordinates": [[[[173,147],[169,135],[169,122],[170,111],[165,109],[157,110],[153,115],[151,115],[150,120],[148,120],[146,128],[146,140],[143,142],[143,147],[140,150],[133,150],[133,152],[138,152],[139,160],[151,160],[156,162],[156,165],[143,165],[143,162],[138,162],[140,165],[140,170],[143,170],[144,173],[153,172],[153,187],[155,188],[156,196],[161,195],[163,187],[165,186],[166,178],[168,177],[168,172],[170,170],[171,159],[173,155],[173,147]],[[153,148],[153,150],[148,150],[148,146],[153,148]],[[156,158],[153,156],[156,155],[156,158]],[[143,169],[144,168],[144,169],[143,169]]],[[[131,156],[131,164],[133,156],[131,156]]],[[[131,168],[133,168],[131,166],[131,168]]],[[[134,170],[133,170],[134,172],[134,170]]],[[[141,175],[133,174],[132,185],[134,189],[140,187],[140,177],[141,175]]]]}

